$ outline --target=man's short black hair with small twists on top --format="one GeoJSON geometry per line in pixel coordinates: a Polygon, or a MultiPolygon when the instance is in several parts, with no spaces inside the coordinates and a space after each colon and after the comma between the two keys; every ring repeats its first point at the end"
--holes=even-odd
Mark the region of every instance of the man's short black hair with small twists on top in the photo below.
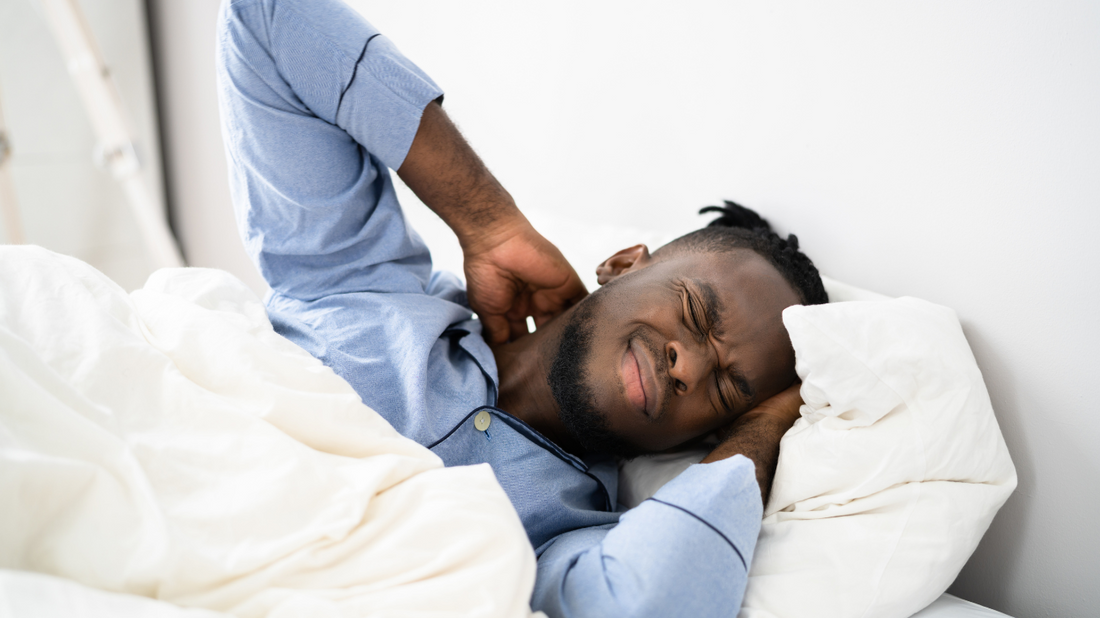
{"type": "Polygon", "coordinates": [[[704,251],[722,253],[748,249],[767,260],[787,279],[803,305],[824,305],[828,294],[822,276],[806,254],[799,251],[799,238],[790,234],[781,239],[771,231],[771,224],[755,210],[724,200],[725,206],[707,206],[700,214],[719,212],[721,216],[705,228],[689,232],[659,249],[656,254],[670,251],[704,251]]]}

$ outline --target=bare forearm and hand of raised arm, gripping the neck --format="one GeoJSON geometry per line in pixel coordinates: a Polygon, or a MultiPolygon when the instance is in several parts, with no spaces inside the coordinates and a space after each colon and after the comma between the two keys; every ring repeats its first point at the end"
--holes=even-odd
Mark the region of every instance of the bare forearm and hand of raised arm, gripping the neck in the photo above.
{"type": "Polygon", "coordinates": [[[397,175],[454,230],[470,307],[490,343],[561,313],[587,291],[573,267],[531,227],[438,103],[428,103],[397,175]]]}

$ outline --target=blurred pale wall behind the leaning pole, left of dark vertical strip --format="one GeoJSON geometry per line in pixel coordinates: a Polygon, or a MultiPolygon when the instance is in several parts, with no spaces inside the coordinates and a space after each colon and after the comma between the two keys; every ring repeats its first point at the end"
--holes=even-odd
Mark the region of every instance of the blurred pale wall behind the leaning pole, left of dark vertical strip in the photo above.
{"type": "MultiPolygon", "coordinates": [[[[157,199],[161,145],[142,0],[79,2],[133,122],[157,199]]],[[[152,272],[122,189],[92,162],[96,139],[42,7],[0,0],[0,104],[26,242],[74,255],[127,289],[152,272]]],[[[0,238],[7,238],[0,231],[0,238]]]]}

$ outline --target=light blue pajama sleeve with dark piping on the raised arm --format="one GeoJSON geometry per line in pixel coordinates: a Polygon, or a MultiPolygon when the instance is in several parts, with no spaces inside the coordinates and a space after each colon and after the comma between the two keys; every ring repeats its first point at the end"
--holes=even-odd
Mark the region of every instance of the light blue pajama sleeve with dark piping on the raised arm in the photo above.
{"type": "Polygon", "coordinates": [[[268,285],[422,293],[430,257],[387,168],[442,96],[431,78],[338,0],[227,0],[217,68],[238,227],[268,285]]]}

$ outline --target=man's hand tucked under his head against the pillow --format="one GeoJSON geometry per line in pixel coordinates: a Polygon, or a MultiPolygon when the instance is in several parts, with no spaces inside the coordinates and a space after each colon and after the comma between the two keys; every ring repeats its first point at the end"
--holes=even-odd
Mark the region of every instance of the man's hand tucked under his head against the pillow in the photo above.
{"type": "Polygon", "coordinates": [[[760,498],[768,506],[771,482],[776,477],[779,463],[779,441],[788,429],[799,420],[802,383],[794,383],[787,390],[765,399],[757,407],[745,412],[733,424],[721,444],[711,451],[703,463],[716,462],[734,455],[745,455],[756,464],[757,484],[760,498]]]}

